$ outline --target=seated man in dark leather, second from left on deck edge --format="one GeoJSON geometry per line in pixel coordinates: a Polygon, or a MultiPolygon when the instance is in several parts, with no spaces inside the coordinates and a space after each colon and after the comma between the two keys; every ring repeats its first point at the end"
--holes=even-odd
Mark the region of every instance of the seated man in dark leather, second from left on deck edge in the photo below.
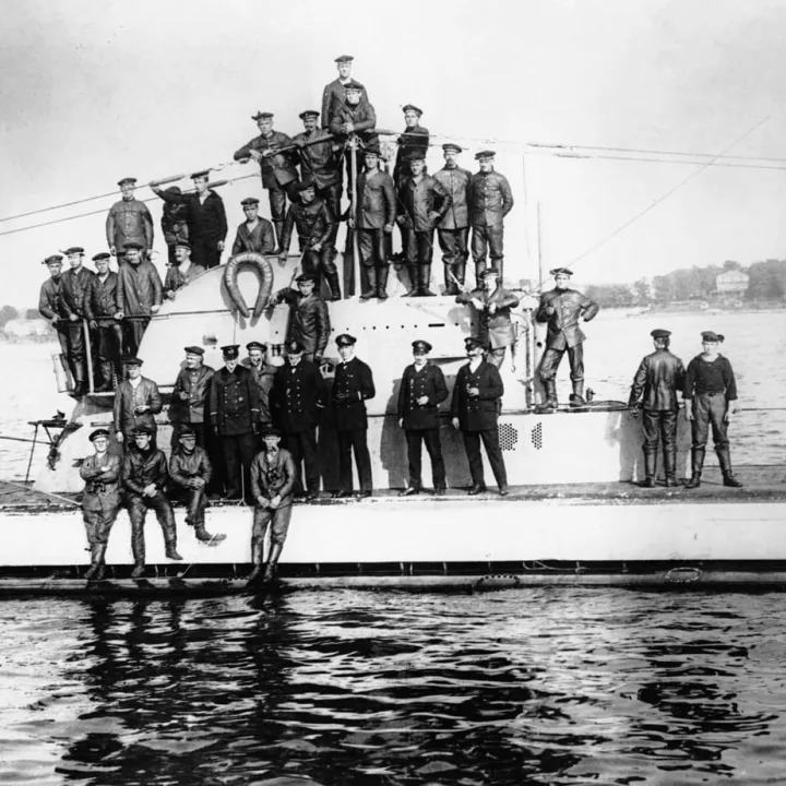
{"type": "Polygon", "coordinates": [[[122,485],[126,505],[131,520],[131,551],[134,558],[132,579],[141,579],[145,572],[144,523],[152,509],[164,533],[166,558],[181,560],[177,552],[175,513],[164,493],[169,473],[166,456],[151,444],[152,431],[147,426],[133,429],[133,444],[126,451],[122,462],[122,485]]]}

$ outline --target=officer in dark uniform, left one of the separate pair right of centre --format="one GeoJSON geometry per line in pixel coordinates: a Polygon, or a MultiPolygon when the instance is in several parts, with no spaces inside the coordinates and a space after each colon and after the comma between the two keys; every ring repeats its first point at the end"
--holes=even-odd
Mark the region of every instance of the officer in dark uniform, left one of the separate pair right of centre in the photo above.
{"type": "Polygon", "coordinates": [[[446,488],[439,436],[439,405],[448,397],[448,385],[442,369],[429,362],[430,352],[428,342],[413,342],[414,361],[404,369],[398,388],[398,426],[406,436],[409,461],[409,483],[400,497],[420,493],[422,489],[422,442],[431,460],[434,493],[443,495],[446,488]]]}

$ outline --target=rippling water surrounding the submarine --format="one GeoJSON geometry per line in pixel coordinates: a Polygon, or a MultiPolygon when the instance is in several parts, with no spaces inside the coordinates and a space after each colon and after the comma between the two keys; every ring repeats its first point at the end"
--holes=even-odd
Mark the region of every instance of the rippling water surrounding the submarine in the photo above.
{"type": "MultiPolygon", "coordinates": [[[[627,397],[656,325],[686,361],[700,330],[726,333],[742,405],[786,406],[786,313],[598,320],[599,397],[627,397]]],[[[67,408],[48,352],[0,346],[3,433],[67,408]]],[[[783,463],[784,415],[740,416],[738,463],[783,463]]],[[[24,475],[24,445],[0,451],[24,475]]],[[[2,602],[0,784],[784,784],[785,607],[563,588],[2,602]]]]}

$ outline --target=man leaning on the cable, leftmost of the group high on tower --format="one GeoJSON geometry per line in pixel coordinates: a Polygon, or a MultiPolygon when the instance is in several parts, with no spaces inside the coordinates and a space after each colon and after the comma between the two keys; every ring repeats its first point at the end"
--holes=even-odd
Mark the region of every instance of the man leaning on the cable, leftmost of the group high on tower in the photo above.
{"type": "Polygon", "coordinates": [[[262,188],[270,196],[271,218],[275,227],[277,248],[281,248],[287,196],[291,200],[291,187],[298,179],[298,154],[294,150],[279,152],[282,147],[295,146],[295,143],[286,134],[273,130],[273,112],[257,112],[251,118],[257,122],[260,135],[235,151],[234,157],[235,160],[243,163],[253,158],[260,165],[262,188]]]}

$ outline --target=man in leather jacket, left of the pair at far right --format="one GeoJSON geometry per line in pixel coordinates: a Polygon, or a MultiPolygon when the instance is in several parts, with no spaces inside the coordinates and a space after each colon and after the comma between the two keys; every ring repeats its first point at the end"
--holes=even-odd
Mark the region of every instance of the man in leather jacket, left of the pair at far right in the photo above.
{"type": "Polygon", "coordinates": [[[684,386],[684,366],[669,352],[671,331],[657,329],[650,335],[655,352],[639,365],[628,406],[634,407],[644,396],[644,488],[655,488],[658,441],[663,443],[666,486],[677,486],[677,392],[684,386]]]}

